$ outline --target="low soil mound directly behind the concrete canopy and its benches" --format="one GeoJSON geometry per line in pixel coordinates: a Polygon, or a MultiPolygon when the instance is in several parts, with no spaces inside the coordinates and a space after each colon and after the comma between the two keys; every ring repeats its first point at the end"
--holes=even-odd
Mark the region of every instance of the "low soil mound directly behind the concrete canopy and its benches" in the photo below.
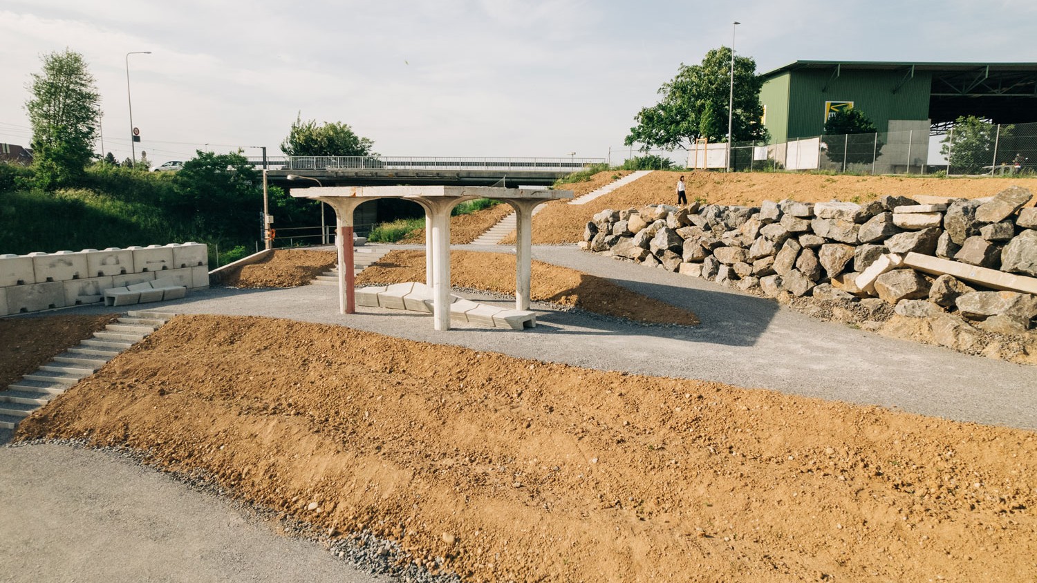
{"type": "MultiPolygon", "coordinates": [[[[609,280],[576,269],[533,261],[530,299],[656,324],[697,326],[698,317],[654,298],[632,292],[609,280]]],[[[425,281],[425,253],[393,251],[364,269],[357,285],[425,281]]],[[[504,253],[450,253],[450,284],[456,288],[514,295],[515,256],[504,253]]]]}

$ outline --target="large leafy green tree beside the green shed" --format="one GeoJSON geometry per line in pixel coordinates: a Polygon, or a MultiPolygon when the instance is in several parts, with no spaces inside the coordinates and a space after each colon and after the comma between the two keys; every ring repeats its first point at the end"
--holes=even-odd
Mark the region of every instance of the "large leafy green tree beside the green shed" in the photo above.
{"type": "MultiPolygon", "coordinates": [[[[731,90],[731,50],[727,47],[706,53],[700,65],[680,64],[677,76],[663,84],[658,104],[642,108],[635,116],[624,143],[642,144],[672,150],[689,149],[696,139],[727,141],[728,99],[731,90]]],[[[734,107],[731,115],[732,141],[766,140],[761,123],[762,76],[756,75],[756,61],[734,58],[734,107]]]]}

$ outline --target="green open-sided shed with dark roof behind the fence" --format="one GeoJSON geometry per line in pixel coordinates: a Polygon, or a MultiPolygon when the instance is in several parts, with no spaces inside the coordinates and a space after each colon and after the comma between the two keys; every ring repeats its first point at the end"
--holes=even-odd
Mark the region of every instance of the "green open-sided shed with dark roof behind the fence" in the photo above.
{"type": "Polygon", "coordinates": [[[820,136],[847,104],[879,132],[928,132],[968,115],[1037,122],[1037,63],[795,61],[763,78],[763,124],[775,143],[820,136]]]}

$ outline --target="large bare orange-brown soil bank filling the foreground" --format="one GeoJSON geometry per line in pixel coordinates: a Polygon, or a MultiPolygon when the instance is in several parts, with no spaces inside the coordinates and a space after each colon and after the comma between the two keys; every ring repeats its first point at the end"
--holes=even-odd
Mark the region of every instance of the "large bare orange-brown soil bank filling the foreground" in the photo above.
{"type": "Polygon", "coordinates": [[[1021,581],[1034,433],[345,327],[177,317],[21,424],[466,581],[1021,581]]]}

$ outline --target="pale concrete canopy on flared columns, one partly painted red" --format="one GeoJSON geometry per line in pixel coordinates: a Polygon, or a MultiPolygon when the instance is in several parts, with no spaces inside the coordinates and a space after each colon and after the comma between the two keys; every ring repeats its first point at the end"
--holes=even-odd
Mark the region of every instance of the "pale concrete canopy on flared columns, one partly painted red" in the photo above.
{"type": "Polygon", "coordinates": [[[515,309],[529,310],[532,272],[533,209],[542,203],[571,199],[572,191],[500,188],[494,186],[321,186],[292,188],[292,197],[328,203],[335,210],[338,252],[339,309],[356,311],[353,264],[353,211],[369,200],[412,200],[425,209],[425,284],[432,290],[437,330],[450,329],[450,211],[459,203],[494,199],[511,205],[516,214],[515,309]]]}

